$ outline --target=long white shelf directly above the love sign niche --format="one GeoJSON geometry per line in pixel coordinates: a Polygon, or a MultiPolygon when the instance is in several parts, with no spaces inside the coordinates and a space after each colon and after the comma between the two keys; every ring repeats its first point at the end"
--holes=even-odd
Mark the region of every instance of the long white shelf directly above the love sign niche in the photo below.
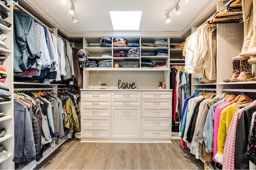
{"type": "Polygon", "coordinates": [[[169,68],[100,68],[100,67],[86,67],[84,70],[92,71],[168,71],[169,68]]]}

